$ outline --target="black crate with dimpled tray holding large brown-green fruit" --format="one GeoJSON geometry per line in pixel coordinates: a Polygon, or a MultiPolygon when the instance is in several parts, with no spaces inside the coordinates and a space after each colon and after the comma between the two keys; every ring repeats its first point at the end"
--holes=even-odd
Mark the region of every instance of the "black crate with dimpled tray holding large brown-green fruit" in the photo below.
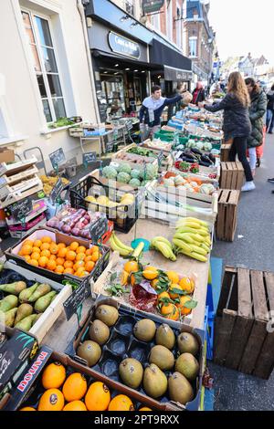
{"type": "MultiPolygon", "coordinates": [[[[90,309],[90,314],[88,315],[87,319],[83,322],[83,324],[81,324],[78,332],[76,333],[73,345],[70,345],[66,352],[68,355],[71,355],[73,359],[81,361],[86,365],[88,364],[87,361],[77,356],[77,350],[83,341],[89,339],[90,322],[96,318],[96,309],[98,309],[100,305],[109,305],[115,309],[118,309],[119,318],[117,319],[115,325],[110,328],[109,340],[107,340],[107,342],[101,346],[101,356],[99,361],[97,361],[97,363],[92,366],[91,369],[102,376],[109,377],[113,382],[117,382],[121,386],[125,387],[125,384],[121,381],[121,377],[119,375],[119,365],[121,361],[126,358],[135,359],[142,363],[144,369],[149,361],[150,350],[155,345],[154,340],[145,342],[138,340],[133,335],[133,326],[135,323],[139,320],[146,319],[147,317],[147,315],[142,311],[129,309],[126,306],[119,304],[113,298],[99,296],[94,306],[90,309]]],[[[150,315],[150,320],[153,320],[156,328],[159,328],[163,324],[163,319],[157,318],[155,315],[150,315]]],[[[187,332],[195,336],[195,342],[198,345],[198,351],[196,352],[195,356],[199,362],[199,373],[195,380],[191,382],[194,392],[193,399],[184,405],[183,403],[171,401],[169,394],[166,392],[163,393],[161,397],[153,399],[151,396],[146,394],[142,385],[136,390],[132,388],[130,388],[130,390],[147,398],[146,403],[148,403],[148,401],[153,401],[153,403],[155,403],[156,409],[170,409],[169,407],[174,406],[178,411],[182,411],[184,409],[189,411],[197,411],[200,404],[202,371],[204,368],[204,332],[200,330],[193,330],[184,324],[178,325],[172,320],[166,320],[165,324],[168,325],[171,330],[173,330],[175,338],[182,332],[187,332]]],[[[178,349],[175,345],[173,348],[174,357],[176,357],[177,351],[178,349]]],[[[164,371],[164,373],[165,375],[169,375],[171,371],[164,371]]]]}

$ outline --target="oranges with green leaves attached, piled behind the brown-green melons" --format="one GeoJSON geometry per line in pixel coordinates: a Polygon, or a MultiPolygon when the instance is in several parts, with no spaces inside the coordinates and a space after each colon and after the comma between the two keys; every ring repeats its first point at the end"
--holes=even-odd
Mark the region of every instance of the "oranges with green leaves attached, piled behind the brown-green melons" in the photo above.
{"type": "MultiPolygon", "coordinates": [[[[128,284],[142,291],[143,305],[145,305],[145,291],[139,286],[143,281],[149,282],[158,297],[155,301],[160,314],[166,319],[179,320],[195,309],[197,302],[192,298],[195,291],[195,280],[192,277],[180,276],[175,271],[162,271],[155,267],[141,267],[135,261],[128,261],[121,273],[121,285],[128,284]]],[[[134,293],[134,290],[133,290],[134,293]]],[[[147,292],[148,299],[150,298],[147,292]]]]}

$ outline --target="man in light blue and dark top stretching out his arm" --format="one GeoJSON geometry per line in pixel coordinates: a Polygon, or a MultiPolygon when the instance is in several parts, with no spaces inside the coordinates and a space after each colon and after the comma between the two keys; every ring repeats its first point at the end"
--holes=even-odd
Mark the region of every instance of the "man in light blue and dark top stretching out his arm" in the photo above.
{"type": "Polygon", "coordinates": [[[182,87],[181,93],[172,99],[162,97],[161,87],[157,85],[152,88],[152,95],[142,101],[140,109],[140,131],[142,140],[154,135],[161,128],[161,115],[165,106],[175,104],[184,97],[185,89],[182,87]]]}

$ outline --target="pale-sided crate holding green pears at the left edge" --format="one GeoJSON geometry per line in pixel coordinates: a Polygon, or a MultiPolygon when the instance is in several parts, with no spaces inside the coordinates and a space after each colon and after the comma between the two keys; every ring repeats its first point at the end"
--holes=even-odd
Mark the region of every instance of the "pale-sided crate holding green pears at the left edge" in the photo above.
{"type": "MultiPolygon", "coordinates": [[[[58,319],[63,311],[63,303],[71,295],[72,288],[69,284],[63,286],[59,283],[48,280],[40,274],[33,273],[26,268],[17,266],[12,262],[5,262],[5,266],[0,275],[1,284],[13,283],[15,281],[25,281],[27,288],[30,288],[35,283],[49,285],[53,290],[58,292],[58,295],[52,300],[47,309],[42,313],[42,316],[36,321],[32,328],[27,332],[30,335],[35,335],[38,342],[41,343],[43,338],[46,336],[47,331],[53,326],[55,321],[58,319]]],[[[8,295],[5,292],[0,291],[0,297],[5,298],[8,295]],[[2,297],[1,297],[2,295],[2,297]]]]}

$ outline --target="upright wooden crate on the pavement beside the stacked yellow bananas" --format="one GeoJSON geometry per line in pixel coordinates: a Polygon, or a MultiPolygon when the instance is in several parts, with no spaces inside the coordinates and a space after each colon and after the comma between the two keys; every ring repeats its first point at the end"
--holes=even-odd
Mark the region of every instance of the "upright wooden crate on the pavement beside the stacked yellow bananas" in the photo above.
{"type": "Polygon", "coordinates": [[[233,241],[237,228],[237,204],[239,191],[220,189],[218,192],[218,214],[216,218],[216,238],[233,241]]]}

